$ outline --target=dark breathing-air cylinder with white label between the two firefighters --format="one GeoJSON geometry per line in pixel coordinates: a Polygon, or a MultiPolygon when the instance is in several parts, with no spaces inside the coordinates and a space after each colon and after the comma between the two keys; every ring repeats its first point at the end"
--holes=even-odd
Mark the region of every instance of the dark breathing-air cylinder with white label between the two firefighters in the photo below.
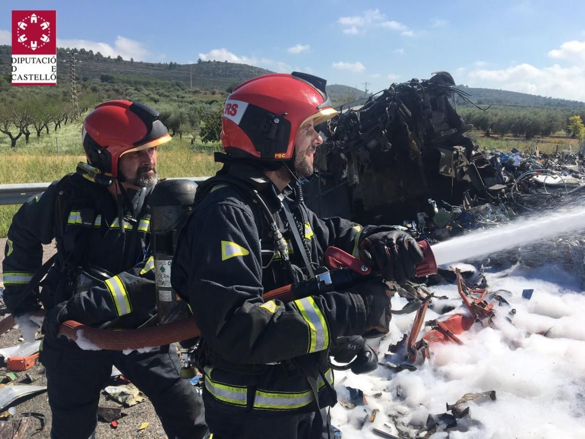
{"type": "Polygon", "coordinates": [[[197,184],[187,179],[161,180],[150,195],[150,230],[154,248],[159,322],[177,303],[171,287],[171,262],[178,232],[191,213],[197,184]]]}

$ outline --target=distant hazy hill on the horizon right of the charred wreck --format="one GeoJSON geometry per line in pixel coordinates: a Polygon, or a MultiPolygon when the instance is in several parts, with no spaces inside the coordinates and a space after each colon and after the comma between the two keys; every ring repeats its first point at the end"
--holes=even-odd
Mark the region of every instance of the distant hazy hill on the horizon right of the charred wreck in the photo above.
{"type": "MultiPolygon", "coordinates": [[[[495,90],[493,88],[474,88],[456,85],[470,94],[470,99],[479,105],[498,105],[504,107],[542,107],[542,108],[585,108],[585,102],[549,98],[517,91],[495,90]]],[[[457,105],[469,105],[456,96],[457,105]]]]}

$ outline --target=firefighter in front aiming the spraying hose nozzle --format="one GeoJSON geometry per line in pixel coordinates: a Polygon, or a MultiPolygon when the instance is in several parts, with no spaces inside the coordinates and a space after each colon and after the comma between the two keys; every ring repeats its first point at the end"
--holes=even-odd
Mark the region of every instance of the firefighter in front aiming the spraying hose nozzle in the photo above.
{"type": "MultiPolygon", "coordinates": [[[[328,351],[339,337],[388,332],[387,283],[369,280],[283,303],[262,294],[315,276],[335,245],[388,281],[415,274],[422,254],[390,227],[319,219],[302,201],[336,114],[325,80],[268,74],[236,87],[223,109],[222,169],[198,187],[178,238],[171,284],[201,329],[205,417],[214,439],[320,438],[336,403],[328,351]]],[[[325,433],[326,434],[326,433],[325,433]]]]}

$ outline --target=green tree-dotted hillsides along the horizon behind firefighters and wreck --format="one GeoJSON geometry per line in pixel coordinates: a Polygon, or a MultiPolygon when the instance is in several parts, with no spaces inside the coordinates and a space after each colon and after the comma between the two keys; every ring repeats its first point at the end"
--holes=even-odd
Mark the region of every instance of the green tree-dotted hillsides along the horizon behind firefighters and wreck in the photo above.
{"type": "MultiPolygon", "coordinates": [[[[151,105],[174,136],[197,141],[219,140],[219,121],[225,98],[235,85],[270,73],[246,64],[198,60],[193,64],[144,63],[104,57],[85,49],[57,50],[57,87],[11,87],[11,47],[0,46],[0,149],[26,145],[30,137],[57,131],[61,124],[83,115],[93,105],[109,99],[127,99],[151,105]],[[71,104],[70,59],[74,54],[78,107],[71,104]]],[[[571,129],[571,119],[585,120],[585,103],[525,93],[458,86],[481,108],[456,95],[459,114],[484,132],[508,133],[531,139],[571,129]]],[[[365,97],[347,85],[328,85],[334,106],[365,97]]]]}

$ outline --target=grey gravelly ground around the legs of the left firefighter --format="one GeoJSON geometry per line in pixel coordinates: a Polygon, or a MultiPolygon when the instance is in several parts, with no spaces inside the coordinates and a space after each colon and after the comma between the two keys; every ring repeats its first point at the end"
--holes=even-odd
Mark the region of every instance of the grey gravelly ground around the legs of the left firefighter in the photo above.
{"type": "MultiPolygon", "coordinates": [[[[6,239],[0,239],[0,262],[4,259],[4,246],[6,243],[6,239]]],[[[44,259],[50,258],[50,256],[54,253],[54,245],[48,245],[44,248],[44,259]]],[[[2,283],[2,274],[0,270],[0,284],[2,283]]],[[[37,333],[37,337],[40,336],[40,332],[37,333]]],[[[25,340],[21,338],[20,335],[20,328],[15,327],[6,332],[5,334],[0,335],[0,348],[5,348],[9,346],[18,345],[25,340]]],[[[1,364],[0,366],[5,366],[5,364],[1,364]]],[[[26,372],[16,372],[18,375],[18,379],[15,383],[27,383],[27,379],[25,377],[26,373],[32,373],[33,375],[39,376],[37,380],[35,380],[32,385],[35,386],[45,386],[46,385],[46,376],[44,375],[44,368],[40,363],[33,366],[32,369],[29,369],[26,372]]],[[[0,369],[0,375],[4,375],[4,369],[0,369]]],[[[120,383],[112,382],[112,385],[118,385],[120,383]]],[[[106,396],[104,396],[104,392],[100,396],[100,406],[116,406],[118,405],[116,402],[109,400],[106,396]]],[[[50,429],[51,429],[51,410],[49,407],[49,399],[47,398],[47,393],[40,393],[39,395],[28,397],[28,399],[20,399],[17,400],[12,405],[16,409],[16,414],[14,417],[23,416],[26,413],[32,413],[33,416],[30,417],[29,424],[26,430],[25,437],[31,437],[36,439],[41,438],[49,438],[50,437],[50,429]],[[40,414],[42,416],[38,416],[40,414]],[[43,419],[44,427],[42,426],[42,422],[39,420],[43,419]],[[43,427],[43,428],[42,428],[43,427]]],[[[96,437],[98,438],[157,438],[163,439],[166,438],[167,435],[164,433],[163,427],[160,423],[159,417],[154,412],[154,407],[152,404],[146,400],[145,402],[136,404],[132,407],[124,407],[122,409],[123,417],[118,420],[118,427],[113,428],[110,424],[105,423],[102,420],[98,421],[98,427],[96,429],[96,437]],[[139,427],[142,423],[147,422],[149,425],[144,428],[143,430],[139,430],[139,427]]]]}

